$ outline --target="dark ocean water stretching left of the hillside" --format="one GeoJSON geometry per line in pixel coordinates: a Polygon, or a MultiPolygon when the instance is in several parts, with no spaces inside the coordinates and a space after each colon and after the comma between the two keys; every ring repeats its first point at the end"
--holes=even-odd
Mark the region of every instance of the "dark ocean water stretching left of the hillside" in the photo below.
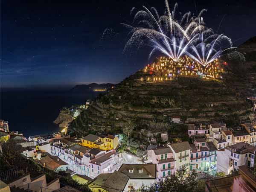
{"type": "Polygon", "coordinates": [[[20,131],[26,137],[60,131],[52,122],[62,107],[85,104],[87,99],[94,99],[98,94],[54,90],[2,90],[0,119],[9,122],[10,131],[20,131]]]}

